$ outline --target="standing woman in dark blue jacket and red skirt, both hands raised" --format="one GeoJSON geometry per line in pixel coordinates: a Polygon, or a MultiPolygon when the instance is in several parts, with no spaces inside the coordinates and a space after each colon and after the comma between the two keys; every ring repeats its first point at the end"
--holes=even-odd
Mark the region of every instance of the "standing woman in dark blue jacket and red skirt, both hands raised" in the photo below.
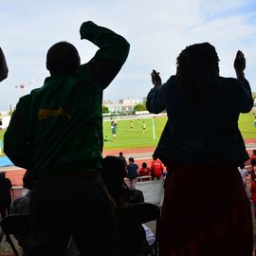
{"type": "Polygon", "coordinates": [[[213,46],[196,44],[179,54],[167,82],[151,74],[147,109],[168,116],[155,149],[168,168],[160,256],[252,253],[251,212],[237,170],[248,159],[237,121],[253,105],[246,59],[237,52],[237,79],[219,76],[218,62],[213,46]]]}

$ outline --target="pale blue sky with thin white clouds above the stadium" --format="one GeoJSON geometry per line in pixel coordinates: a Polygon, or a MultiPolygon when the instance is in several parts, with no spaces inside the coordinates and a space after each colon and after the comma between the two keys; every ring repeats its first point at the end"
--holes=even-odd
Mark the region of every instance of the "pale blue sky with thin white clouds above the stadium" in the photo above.
{"type": "Polygon", "coordinates": [[[145,97],[153,68],[166,81],[175,73],[179,52],[202,42],[216,47],[222,76],[234,76],[235,53],[243,50],[246,76],[256,91],[255,0],[0,0],[0,46],[9,64],[9,78],[0,84],[0,110],[44,83],[46,51],[56,42],[77,46],[82,63],[93,57],[98,48],[79,34],[87,20],[113,29],[131,44],[105,100],[145,97]],[[24,90],[15,87],[22,83],[24,90]]]}

